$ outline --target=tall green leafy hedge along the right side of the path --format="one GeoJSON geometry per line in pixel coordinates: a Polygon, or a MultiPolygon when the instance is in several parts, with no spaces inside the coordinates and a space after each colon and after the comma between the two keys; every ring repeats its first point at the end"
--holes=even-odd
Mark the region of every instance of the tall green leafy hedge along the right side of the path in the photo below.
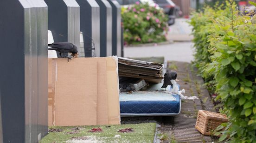
{"type": "Polygon", "coordinates": [[[230,0],[193,13],[195,65],[230,119],[218,127],[219,140],[256,143],[256,16],[241,16],[236,7],[230,0]]]}

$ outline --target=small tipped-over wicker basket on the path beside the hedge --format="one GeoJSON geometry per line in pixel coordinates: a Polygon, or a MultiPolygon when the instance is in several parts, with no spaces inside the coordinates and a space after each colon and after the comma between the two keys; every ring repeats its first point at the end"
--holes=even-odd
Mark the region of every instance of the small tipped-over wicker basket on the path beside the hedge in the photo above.
{"type": "Polygon", "coordinates": [[[225,114],[199,110],[196,129],[203,135],[210,136],[212,135],[212,130],[215,130],[220,124],[227,121],[228,119],[225,114]]]}

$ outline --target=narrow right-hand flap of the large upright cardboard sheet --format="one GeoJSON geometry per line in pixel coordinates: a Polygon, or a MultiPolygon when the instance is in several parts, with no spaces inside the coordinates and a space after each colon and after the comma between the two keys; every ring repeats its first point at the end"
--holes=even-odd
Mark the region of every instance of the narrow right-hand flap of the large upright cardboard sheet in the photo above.
{"type": "Polygon", "coordinates": [[[108,117],[109,125],[120,123],[119,81],[117,58],[107,57],[108,117]]]}

